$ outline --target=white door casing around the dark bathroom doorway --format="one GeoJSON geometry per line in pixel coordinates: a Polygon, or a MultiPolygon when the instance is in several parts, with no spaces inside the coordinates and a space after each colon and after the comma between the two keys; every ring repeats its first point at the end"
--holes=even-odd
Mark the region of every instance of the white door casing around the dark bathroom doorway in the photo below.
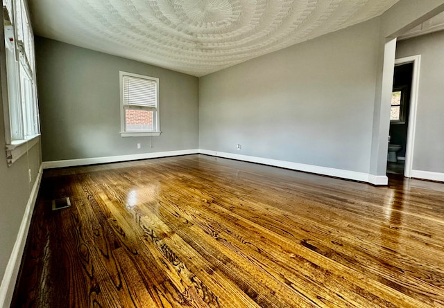
{"type": "Polygon", "coordinates": [[[413,74],[411,78],[409,126],[407,127],[407,145],[405,150],[404,176],[411,177],[411,172],[413,168],[413,150],[415,146],[416,111],[418,109],[421,55],[412,55],[411,57],[402,57],[395,60],[395,65],[407,63],[413,63],[413,74]]]}

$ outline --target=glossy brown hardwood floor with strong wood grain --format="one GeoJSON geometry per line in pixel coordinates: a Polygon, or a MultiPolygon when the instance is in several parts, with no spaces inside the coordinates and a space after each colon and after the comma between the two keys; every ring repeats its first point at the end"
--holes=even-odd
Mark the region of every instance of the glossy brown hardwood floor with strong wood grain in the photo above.
{"type": "Polygon", "coordinates": [[[12,307],[444,307],[444,185],[202,155],[46,170],[12,307]]]}

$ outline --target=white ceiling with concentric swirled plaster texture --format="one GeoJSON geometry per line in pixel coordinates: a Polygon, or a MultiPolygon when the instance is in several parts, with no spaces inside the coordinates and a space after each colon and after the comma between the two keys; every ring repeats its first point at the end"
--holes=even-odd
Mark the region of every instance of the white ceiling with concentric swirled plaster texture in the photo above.
{"type": "Polygon", "coordinates": [[[398,0],[29,0],[37,35],[202,76],[371,19],[398,0]]]}

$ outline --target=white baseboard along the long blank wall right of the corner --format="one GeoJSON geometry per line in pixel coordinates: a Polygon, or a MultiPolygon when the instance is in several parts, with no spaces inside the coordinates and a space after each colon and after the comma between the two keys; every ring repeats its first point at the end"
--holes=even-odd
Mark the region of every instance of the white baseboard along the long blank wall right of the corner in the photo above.
{"type": "Polygon", "coordinates": [[[341,179],[349,179],[354,181],[361,181],[366,183],[372,183],[374,185],[387,185],[387,176],[374,176],[372,174],[364,172],[356,172],[350,170],[342,170],[330,167],[322,167],[317,165],[307,165],[304,163],[293,163],[291,161],[280,161],[271,158],[262,158],[257,156],[248,156],[241,154],[232,154],[227,152],[216,152],[210,150],[199,150],[200,154],[206,154],[211,156],[236,159],[238,161],[248,161],[250,163],[261,163],[263,165],[271,165],[274,167],[282,167],[291,170],[311,172],[316,174],[322,174],[327,176],[336,176],[341,179]]]}

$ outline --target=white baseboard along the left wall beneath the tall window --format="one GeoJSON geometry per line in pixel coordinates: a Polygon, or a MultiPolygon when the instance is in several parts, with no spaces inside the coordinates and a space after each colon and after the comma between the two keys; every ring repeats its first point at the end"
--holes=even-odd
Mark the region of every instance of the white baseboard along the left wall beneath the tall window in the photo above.
{"type": "Polygon", "coordinates": [[[42,181],[43,166],[40,165],[37,179],[35,179],[33,189],[26,204],[25,212],[20,224],[19,233],[15,240],[14,247],[6,265],[5,274],[0,284],[0,307],[10,307],[10,301],[15,289],[15,282],[20,269],[20,263],[22,262],[22,255],[24,252],[26,237],[28,236],[29,226],[31,225],[31,218],[33,217],[35,201],[37,200],[37,194],[40,188],[40,181],[42,181]]]}

